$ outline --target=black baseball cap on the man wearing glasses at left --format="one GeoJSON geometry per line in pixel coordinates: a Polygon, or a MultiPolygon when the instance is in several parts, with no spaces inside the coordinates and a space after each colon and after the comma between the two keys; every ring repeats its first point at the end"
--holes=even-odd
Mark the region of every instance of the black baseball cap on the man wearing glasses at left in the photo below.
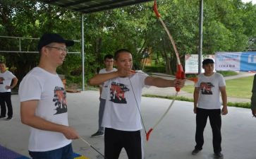
{"type": "Polygon", "coordinates": [[[40,38],[37,49],[40,52],[42,47],[49,45],[51,42],[58,42],[58,43],[65,43],[67,47],[73,46],[74,41],[73,40],[64,40],[61,35],[56,34],[56,33],[45,33],[42,35],[40,38]]]}

